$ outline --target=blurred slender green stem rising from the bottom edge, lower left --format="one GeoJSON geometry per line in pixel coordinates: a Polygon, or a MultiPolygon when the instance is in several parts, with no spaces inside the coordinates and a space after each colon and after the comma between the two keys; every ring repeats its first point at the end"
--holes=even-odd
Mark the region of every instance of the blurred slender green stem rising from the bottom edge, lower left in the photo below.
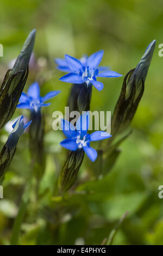
{"type": "Polygon", "coordinates": [[[26,213],[26,209],[28,205],[30,188],[32,185],[32,175],[33,175],[33,171],[31,169],[29,173],[29,177],[27,179],[26,187],[24,188],[24,192],[21,198],[20,208],[18,210],[18,214],[15,218],[14,225],[12,228],[11,241],[10,241],[11,245],[18,244],[18,236],[20,234],[21,224],[23,222],[24,215],[26,213]]]}

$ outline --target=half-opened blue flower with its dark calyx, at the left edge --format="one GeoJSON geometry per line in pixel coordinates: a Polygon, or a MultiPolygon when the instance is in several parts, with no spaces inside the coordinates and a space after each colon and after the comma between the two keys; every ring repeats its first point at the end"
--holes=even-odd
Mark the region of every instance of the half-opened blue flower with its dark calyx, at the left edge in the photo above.
{"type": "Polygon", "coordinates": [[[24,130],[27,129],[31,122],[32,121],[29,121],[27,124],[24,124],[23,116],[21,116],[12,125],[13,130],[10,133],[8,140],[0,153],[0,182],[2,182],[4,178],[4,173],[7,171],[12,157],[15,154],[18,139],[23,134],[24,130]]]}

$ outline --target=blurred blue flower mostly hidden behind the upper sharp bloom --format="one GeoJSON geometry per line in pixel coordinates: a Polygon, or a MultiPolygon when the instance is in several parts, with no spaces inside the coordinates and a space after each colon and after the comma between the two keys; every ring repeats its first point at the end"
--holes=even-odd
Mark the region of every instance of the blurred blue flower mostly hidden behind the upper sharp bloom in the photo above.
{"type": "MultiPolygon", "coordinates": [[[[85,68],[87,67],[87,55],[83,55],[82,58],[79,59],[79,61],[82,63],[83,66],[85,66],[85,68]]],[[[64,72],[71,72],[71,69],[69,68],[67,62],[65,59],[60,59],[60,58],[56,58],[55,59],[55,63],[58,65],[56,66],[56,69],[60,70],[60,71],[64,71],[64,72]]],[[[109,66],[99,66],[98,67],[98,71],[105,71],[105,70],[109,70],[110,67],[109,66]]]]}

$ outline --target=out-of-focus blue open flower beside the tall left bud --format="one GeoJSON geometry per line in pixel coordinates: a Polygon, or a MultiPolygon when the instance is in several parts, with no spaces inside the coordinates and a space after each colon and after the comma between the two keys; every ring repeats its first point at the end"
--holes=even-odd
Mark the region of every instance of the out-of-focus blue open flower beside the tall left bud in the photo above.
{"type": "Polygon", "coordinates": [[[52,99],[54,96],[60,93],[60,90],[54,90],[47,93],[44,97],[40,96],[40,87],[37,82],[33,83],[27,94],[22,93],[17,108],[28,108],[31,111],[39,112],[41,107],[49,106],[51,103],[44,103],[47,100],[52,99]]]}

